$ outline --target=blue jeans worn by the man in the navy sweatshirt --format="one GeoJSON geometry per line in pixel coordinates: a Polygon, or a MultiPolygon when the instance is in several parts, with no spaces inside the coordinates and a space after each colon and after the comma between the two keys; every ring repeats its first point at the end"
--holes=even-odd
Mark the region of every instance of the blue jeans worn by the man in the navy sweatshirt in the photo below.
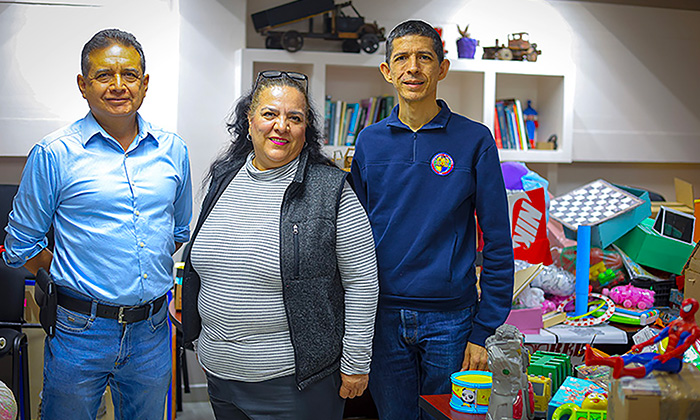
{"type": "Polygon", "coordinates": [[[369,388],[380,419],[432,419],[419,396],[452,392],[450,375],[462,368],[472,312],[377,311],[369,388]]]}

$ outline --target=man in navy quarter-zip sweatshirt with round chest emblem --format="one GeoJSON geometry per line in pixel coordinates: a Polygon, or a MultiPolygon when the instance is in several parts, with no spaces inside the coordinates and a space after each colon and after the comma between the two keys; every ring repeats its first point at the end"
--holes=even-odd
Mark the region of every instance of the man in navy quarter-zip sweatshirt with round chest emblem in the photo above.
{"type": "Polygon", "coordinates": [[[487,370],[484,341],[510,311],[513,247],[498,150],[487,127],[437,99],[449,66],[432,26],[394,28],[380,70],[398,106],[360,133],[352,162],[377,247],[369,386],[382,420],[430,418],[419,395],[450,393],[459,370],[487,370]],[[481,299],[475,212],[485,242],[481,299]]]}

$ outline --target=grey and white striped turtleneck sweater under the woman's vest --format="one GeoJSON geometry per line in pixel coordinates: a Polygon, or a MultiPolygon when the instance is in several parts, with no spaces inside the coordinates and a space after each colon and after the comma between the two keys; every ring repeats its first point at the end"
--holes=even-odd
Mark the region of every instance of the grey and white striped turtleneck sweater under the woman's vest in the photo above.
{"type": "MultiPolygon", "coordinates": [[[[215,376],[259,382],[294,373],[282,300],[280,206],[299,160],[268,171],[245,167],[221,195],[192,246],[201,278],[197,352],[215,376]]],[[[346,184],[337,218],[336,258],[345,289],[341,371],[369,371],[377,272],[367,216],[346,184]]]]}

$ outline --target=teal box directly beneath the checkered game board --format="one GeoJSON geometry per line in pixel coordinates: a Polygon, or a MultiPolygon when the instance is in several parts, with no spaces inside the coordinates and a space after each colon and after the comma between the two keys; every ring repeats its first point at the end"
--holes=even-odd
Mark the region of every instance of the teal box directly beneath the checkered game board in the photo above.
{"type": "MultiPolygon", "coordinates": [[[[651,202],[649,193],[632,187],[612,184],[624,190],[642,201],[642,205],[634,207],[612,219],[591,226],[591,246],[605,249],[630,230],[634,229],[642,220],[651,215],[651,202]]],[[[576,240],[576,231],[564,224],[564,234],[567,238],[576,240]]]]}

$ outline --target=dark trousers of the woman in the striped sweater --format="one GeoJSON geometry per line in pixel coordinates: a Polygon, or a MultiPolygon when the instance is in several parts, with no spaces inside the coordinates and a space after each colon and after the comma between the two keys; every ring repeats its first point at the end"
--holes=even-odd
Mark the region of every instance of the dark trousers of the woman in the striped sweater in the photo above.
{"type": "Polygon", "coordinates": [[[340,372],[299,390],[294,376],[240,382],[207,374],[209,401],[217,420],[342,420],[340,372]]]}

